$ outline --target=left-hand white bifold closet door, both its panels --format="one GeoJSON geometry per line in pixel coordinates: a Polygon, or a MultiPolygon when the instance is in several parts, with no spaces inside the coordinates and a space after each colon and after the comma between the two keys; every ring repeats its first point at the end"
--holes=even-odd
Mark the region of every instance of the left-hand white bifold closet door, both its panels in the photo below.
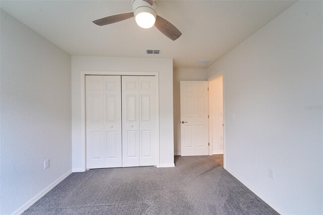
{"type": "Polygon", "coordinates": [[[121,76],[86,76],[86,168],[122,167],[121,76]]]}

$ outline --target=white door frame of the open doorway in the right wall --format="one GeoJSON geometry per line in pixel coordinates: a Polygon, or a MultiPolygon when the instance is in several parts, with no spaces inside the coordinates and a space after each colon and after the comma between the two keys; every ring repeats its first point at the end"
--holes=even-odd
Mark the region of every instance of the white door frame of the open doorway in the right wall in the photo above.
{"type": "Polygon", "coordinates": [[[209,155],[213,155],[213,135],[212,135],[212,120],[213,119],[213,113],[212,113],[212,95],[213,95],[213,89],[212,89],[212,85],[210,84],[210,81],[219,78],[220,76],[222,76],[222,86],[223,86],[223,168],[226,169],[226,118],[225,118],[225,75],[224,75],[224,71],[221,71],[219,73],[217,73],[216,75],[213,75],[211,77],[209,77],[207,79],[208,81],[208,86],[209,86],[209,90],[208,90],[208,105],[209,105],[209,121],[208,121],[208,140],[210,143],[210,147],[208,148],[208,153],[209,155]]]}

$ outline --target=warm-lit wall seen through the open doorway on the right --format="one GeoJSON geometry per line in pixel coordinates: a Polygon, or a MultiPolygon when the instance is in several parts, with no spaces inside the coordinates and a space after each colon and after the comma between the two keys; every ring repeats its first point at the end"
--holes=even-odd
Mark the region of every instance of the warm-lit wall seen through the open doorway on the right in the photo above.
{"type": "Polygon", "coordinates": [[[223,76],[213,79],[209,82],[211,93],[212,113],[210,115],[210,123],[212,125],[212,145],[213,154],[223,154],[223,76]]]}

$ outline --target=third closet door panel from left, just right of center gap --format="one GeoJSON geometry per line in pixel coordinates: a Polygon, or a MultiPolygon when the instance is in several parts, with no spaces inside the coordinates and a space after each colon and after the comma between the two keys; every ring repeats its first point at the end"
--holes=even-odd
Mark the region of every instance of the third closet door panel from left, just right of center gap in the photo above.
{"type": "Polygon", "coordinates": [[[122,76],[122,166],[139,166],[139,77],[122,76]]]}

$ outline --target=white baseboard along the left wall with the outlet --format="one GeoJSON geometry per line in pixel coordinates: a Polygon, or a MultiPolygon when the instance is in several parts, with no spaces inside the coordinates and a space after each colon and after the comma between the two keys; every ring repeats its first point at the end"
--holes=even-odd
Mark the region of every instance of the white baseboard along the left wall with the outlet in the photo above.
{"type": "Polygon", "coordinates": [[[48,187],[43,189],[40,193],[35,195],[32,199],[27,201],[24,205],[19,207],[15,212],[12,213],[12,215],[20,215],[25,210],[27,210],[31,205],[33,205],[36,201],[38,201],[41,197],[43,197],[46,193],[48,193],[52,188],[54,188],[56,185],[58,185],[61,181],[63,181],[66,177],[68,177],[72,173],[72,170],[69,170],[67,173],[65,173],[63,176],[55,180],[53,183],[51,183],[48,187]]]}

